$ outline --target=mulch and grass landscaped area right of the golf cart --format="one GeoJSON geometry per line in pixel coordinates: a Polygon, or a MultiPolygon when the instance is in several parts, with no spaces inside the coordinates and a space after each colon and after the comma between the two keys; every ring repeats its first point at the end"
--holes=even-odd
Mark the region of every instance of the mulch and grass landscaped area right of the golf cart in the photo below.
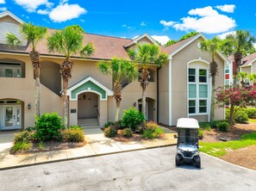
{"type": "Polygon", "coordinates": [[[250,121],[248,124],[235,124],[228,132],[217,129],[203,132],[203,140],[199,143],[200,151],[220,157],[229,163],[256,170],[256,123],[250,121]]]}

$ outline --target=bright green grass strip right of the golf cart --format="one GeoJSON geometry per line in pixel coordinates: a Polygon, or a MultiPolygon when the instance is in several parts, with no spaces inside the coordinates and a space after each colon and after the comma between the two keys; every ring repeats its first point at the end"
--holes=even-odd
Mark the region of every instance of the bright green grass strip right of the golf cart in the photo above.
{"type": "Polygon", "coordinates": [[[200,151],[203,151],[214,157],[222,157],[228,150],[236,150],[249,145],[256,145],[256,132],[244,134],[240,140],[217,142],[217,143],[204,143],[200,142],[200,151]]]}

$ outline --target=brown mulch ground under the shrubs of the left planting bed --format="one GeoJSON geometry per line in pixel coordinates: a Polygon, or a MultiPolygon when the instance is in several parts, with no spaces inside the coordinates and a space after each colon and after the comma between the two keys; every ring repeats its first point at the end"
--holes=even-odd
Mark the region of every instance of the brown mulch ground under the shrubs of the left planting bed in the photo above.
{"type": "Polygon", "coordinates": [[[9,152],[12,155],[20,155],[20,154],[28,154],[34,152],[46,152],[46,151],[60,151],[66,149],[78,148],[86,145],[86,141],[81,143],[73,143],[73,142],[56,142],[53,140],[43,142],[43,149],[39,148],[39,143],[32,143],[32,146],[29,150],[26,151],[17,151],[17,152],[9,152]]]}

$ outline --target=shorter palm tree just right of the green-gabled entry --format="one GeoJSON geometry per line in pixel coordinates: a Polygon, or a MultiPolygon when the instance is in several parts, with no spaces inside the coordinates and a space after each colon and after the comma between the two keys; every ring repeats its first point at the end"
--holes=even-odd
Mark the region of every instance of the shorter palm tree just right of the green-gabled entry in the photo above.
{"type": "Polygon", "coordinates": [[[103,74],[110,75],[113,78],[114,98],[116,99],[115,124],[117,126],[120,113],[120,103],[122,101],[122,82],[127,79],[129,81],[134,81],[138,74],[137,67],[134,63],[129,62],[128,60],[113,58],[110,62],[99,62],[97,64],[97,68],[103,74]]]}

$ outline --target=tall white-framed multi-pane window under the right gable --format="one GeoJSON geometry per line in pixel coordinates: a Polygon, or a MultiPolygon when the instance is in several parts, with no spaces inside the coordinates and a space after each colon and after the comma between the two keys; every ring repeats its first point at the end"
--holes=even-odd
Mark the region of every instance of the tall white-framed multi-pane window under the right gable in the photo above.
{"type": "Polygon", "coordinates": [[[207,114],[209,84],[206,69],[189,68],[188,71],[188,112],[193,114],[207,114]]]}

